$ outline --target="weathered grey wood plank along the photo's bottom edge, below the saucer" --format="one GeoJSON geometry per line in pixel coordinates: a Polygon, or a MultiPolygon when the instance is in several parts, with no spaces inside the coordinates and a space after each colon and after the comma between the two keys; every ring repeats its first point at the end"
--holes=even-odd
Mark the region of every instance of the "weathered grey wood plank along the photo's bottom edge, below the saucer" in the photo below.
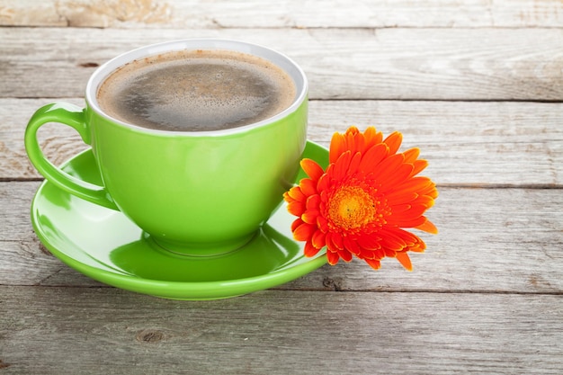
{"type": "Polygon", "coordinates": [[[0,287],[0,317],[3,374],[527,375],[563,367],[560,296],[264,291],[182,302],[0,287]]]}

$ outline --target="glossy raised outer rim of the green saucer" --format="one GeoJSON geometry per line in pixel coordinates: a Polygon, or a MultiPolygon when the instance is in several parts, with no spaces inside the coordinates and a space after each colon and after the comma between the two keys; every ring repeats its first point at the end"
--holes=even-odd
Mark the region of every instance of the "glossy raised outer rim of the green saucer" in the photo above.
{"type": "MultiPolygon", "coordinates": [[[[317,152],[326,152],[328,150],[326,147],[322,147],[315,142],[307,141],[303,155],[306,155],[307,148],[311,147],[317,152]]],[[[312,151],[312,152],[315,152],[312,151]]],[[[73,160],[80,156],[84,156],[86,153],[91,153],[92,149],[87,148],[84,151],[70,157],[65,163],[60,167],[65,168],[67,165],[71,164],[73,160]]],[[[296,181],[298,178],[296,178],[296,181]]],[[[39,237],[41,244],[45,246],[51,254],[57,257],[61,262],[67,264],[70,268],[85,274],[85,276],[90,277],[95,281],[103,282],[104,284],[110,285],[112,287],[130,290],[140,294],[147,294],[154,297],[164,298],[164,299],[183,299],[183,300],[201,300],[201,299],[226,299],[231,297],[237,297],[240,295],[252,293],[258,290],[266,290],[273,288],[275,286],[281,285],[283,283],[293,281],[301,276],[313,272],[327,263],[326,261],[326,249],[322,249],[316,256],[307,258],[308,260],[304,263],[299,263],[294,266],[288,265],[289,263],[294,263],[301,259],[305,259],[305,255],[302,253],[297,258],[292,258],[288,263],[281,265],[281,269],[273,272],[265,272],[264,274],[233,279],[233,280],[222,280],[222,281],[164,281],[143,278],[139,275],[127,274],[126,272],[110,272],[102,268],[96,268],[92,265],[82,263],[76,260],[72,256],[65,254],[63,251],[59,250],[57,246],[53,245],[49,241],[49,235],[45,233],[40,225],[40,219],[38,218],[38,201],[40,196],[43,194],[44,190],[47,188],[54,188],[58,191],[62,191],[53,183],[49,183],[48,180],[44,180],[40,184],[31,201],[31,224],[32,227],[39,237]]],[[[67,193],[69,194],[69,193],[67,193]]],[[[44,196],[44,194],[43,194],[44,196]]],[[[284,210],[285,204],[281,204],[277,210],[284,210]]],[[[109,210],[109,209],[108,209],[109,210]]],[[[276,211],[277,211],[276,210],[276,211]]],[[[122,213],[120,213],[122,215],[122,213]]],[[[288,213],[288,215],[290,215],[288,213]]],[[[302,244],[291,238],[299,244],[302,248],[302,244]]],[[[84,249],[80,249],[84,251],[84,249]]],[[[86,254],[88,254],[86,252],[86,254]]]]}

